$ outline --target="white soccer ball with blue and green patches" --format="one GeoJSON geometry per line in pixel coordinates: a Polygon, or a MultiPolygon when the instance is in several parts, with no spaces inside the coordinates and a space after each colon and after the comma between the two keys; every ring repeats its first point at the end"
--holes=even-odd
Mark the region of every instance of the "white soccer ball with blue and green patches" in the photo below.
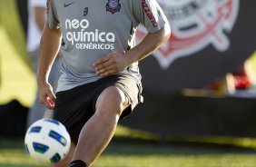
{"type": "Polygon", "coordinates": [[[70,149],[70,135],[64,125],[53,119],[33,123],[25,133],[28,154],[42,162],[59,162],[70,149]]]}

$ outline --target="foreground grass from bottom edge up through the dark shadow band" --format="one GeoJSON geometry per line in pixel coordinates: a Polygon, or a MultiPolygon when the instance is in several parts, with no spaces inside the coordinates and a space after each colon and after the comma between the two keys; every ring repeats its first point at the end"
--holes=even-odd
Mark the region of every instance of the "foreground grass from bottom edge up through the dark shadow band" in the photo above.
{"type": "MultiPolygon", "coordinates": [[[[23,140],[0,140],[0,167],[46,167],[25,154],[23,140]]],[[[94,167],[256,167],[256,152],[203,144],[161,144],[114,139],[94,167]]]]}

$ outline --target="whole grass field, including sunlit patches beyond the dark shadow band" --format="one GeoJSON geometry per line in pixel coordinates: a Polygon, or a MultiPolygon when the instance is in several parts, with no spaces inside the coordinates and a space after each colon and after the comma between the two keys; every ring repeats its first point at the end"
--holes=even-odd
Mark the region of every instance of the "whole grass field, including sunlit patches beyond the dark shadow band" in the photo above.
{"type": "MultiPolygon", "coordinates": [[[[31,159],[23,139],[0,138],[0,167],[47,167],[31,159]]],[[[94,167],[256,167],[256,139],[170,138],[118,126],[94,167]]]]}

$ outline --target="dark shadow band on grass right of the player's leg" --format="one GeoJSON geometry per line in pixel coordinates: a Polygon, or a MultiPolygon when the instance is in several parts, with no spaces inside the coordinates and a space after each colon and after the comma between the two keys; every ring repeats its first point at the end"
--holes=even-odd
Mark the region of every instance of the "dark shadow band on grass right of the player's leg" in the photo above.
{"type": "Polygon", "coordinates": [[[255,149],[202,142],[149,142],[114,139],[105,151],[109,155],[205,155],[255,154],[255,149]]]}

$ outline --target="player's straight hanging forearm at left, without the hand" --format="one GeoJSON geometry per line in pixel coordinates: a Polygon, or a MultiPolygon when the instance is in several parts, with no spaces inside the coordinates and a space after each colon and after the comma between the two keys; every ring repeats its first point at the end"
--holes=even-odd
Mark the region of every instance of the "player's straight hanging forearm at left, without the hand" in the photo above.
{"type": "Polygon", "coordinates": [[[54,59],[61,44],[61,32],[59,29],[51,30],[45,25],[39,50],[39,65],[37,70],[37,83],[47,82],[54,59]]]}

